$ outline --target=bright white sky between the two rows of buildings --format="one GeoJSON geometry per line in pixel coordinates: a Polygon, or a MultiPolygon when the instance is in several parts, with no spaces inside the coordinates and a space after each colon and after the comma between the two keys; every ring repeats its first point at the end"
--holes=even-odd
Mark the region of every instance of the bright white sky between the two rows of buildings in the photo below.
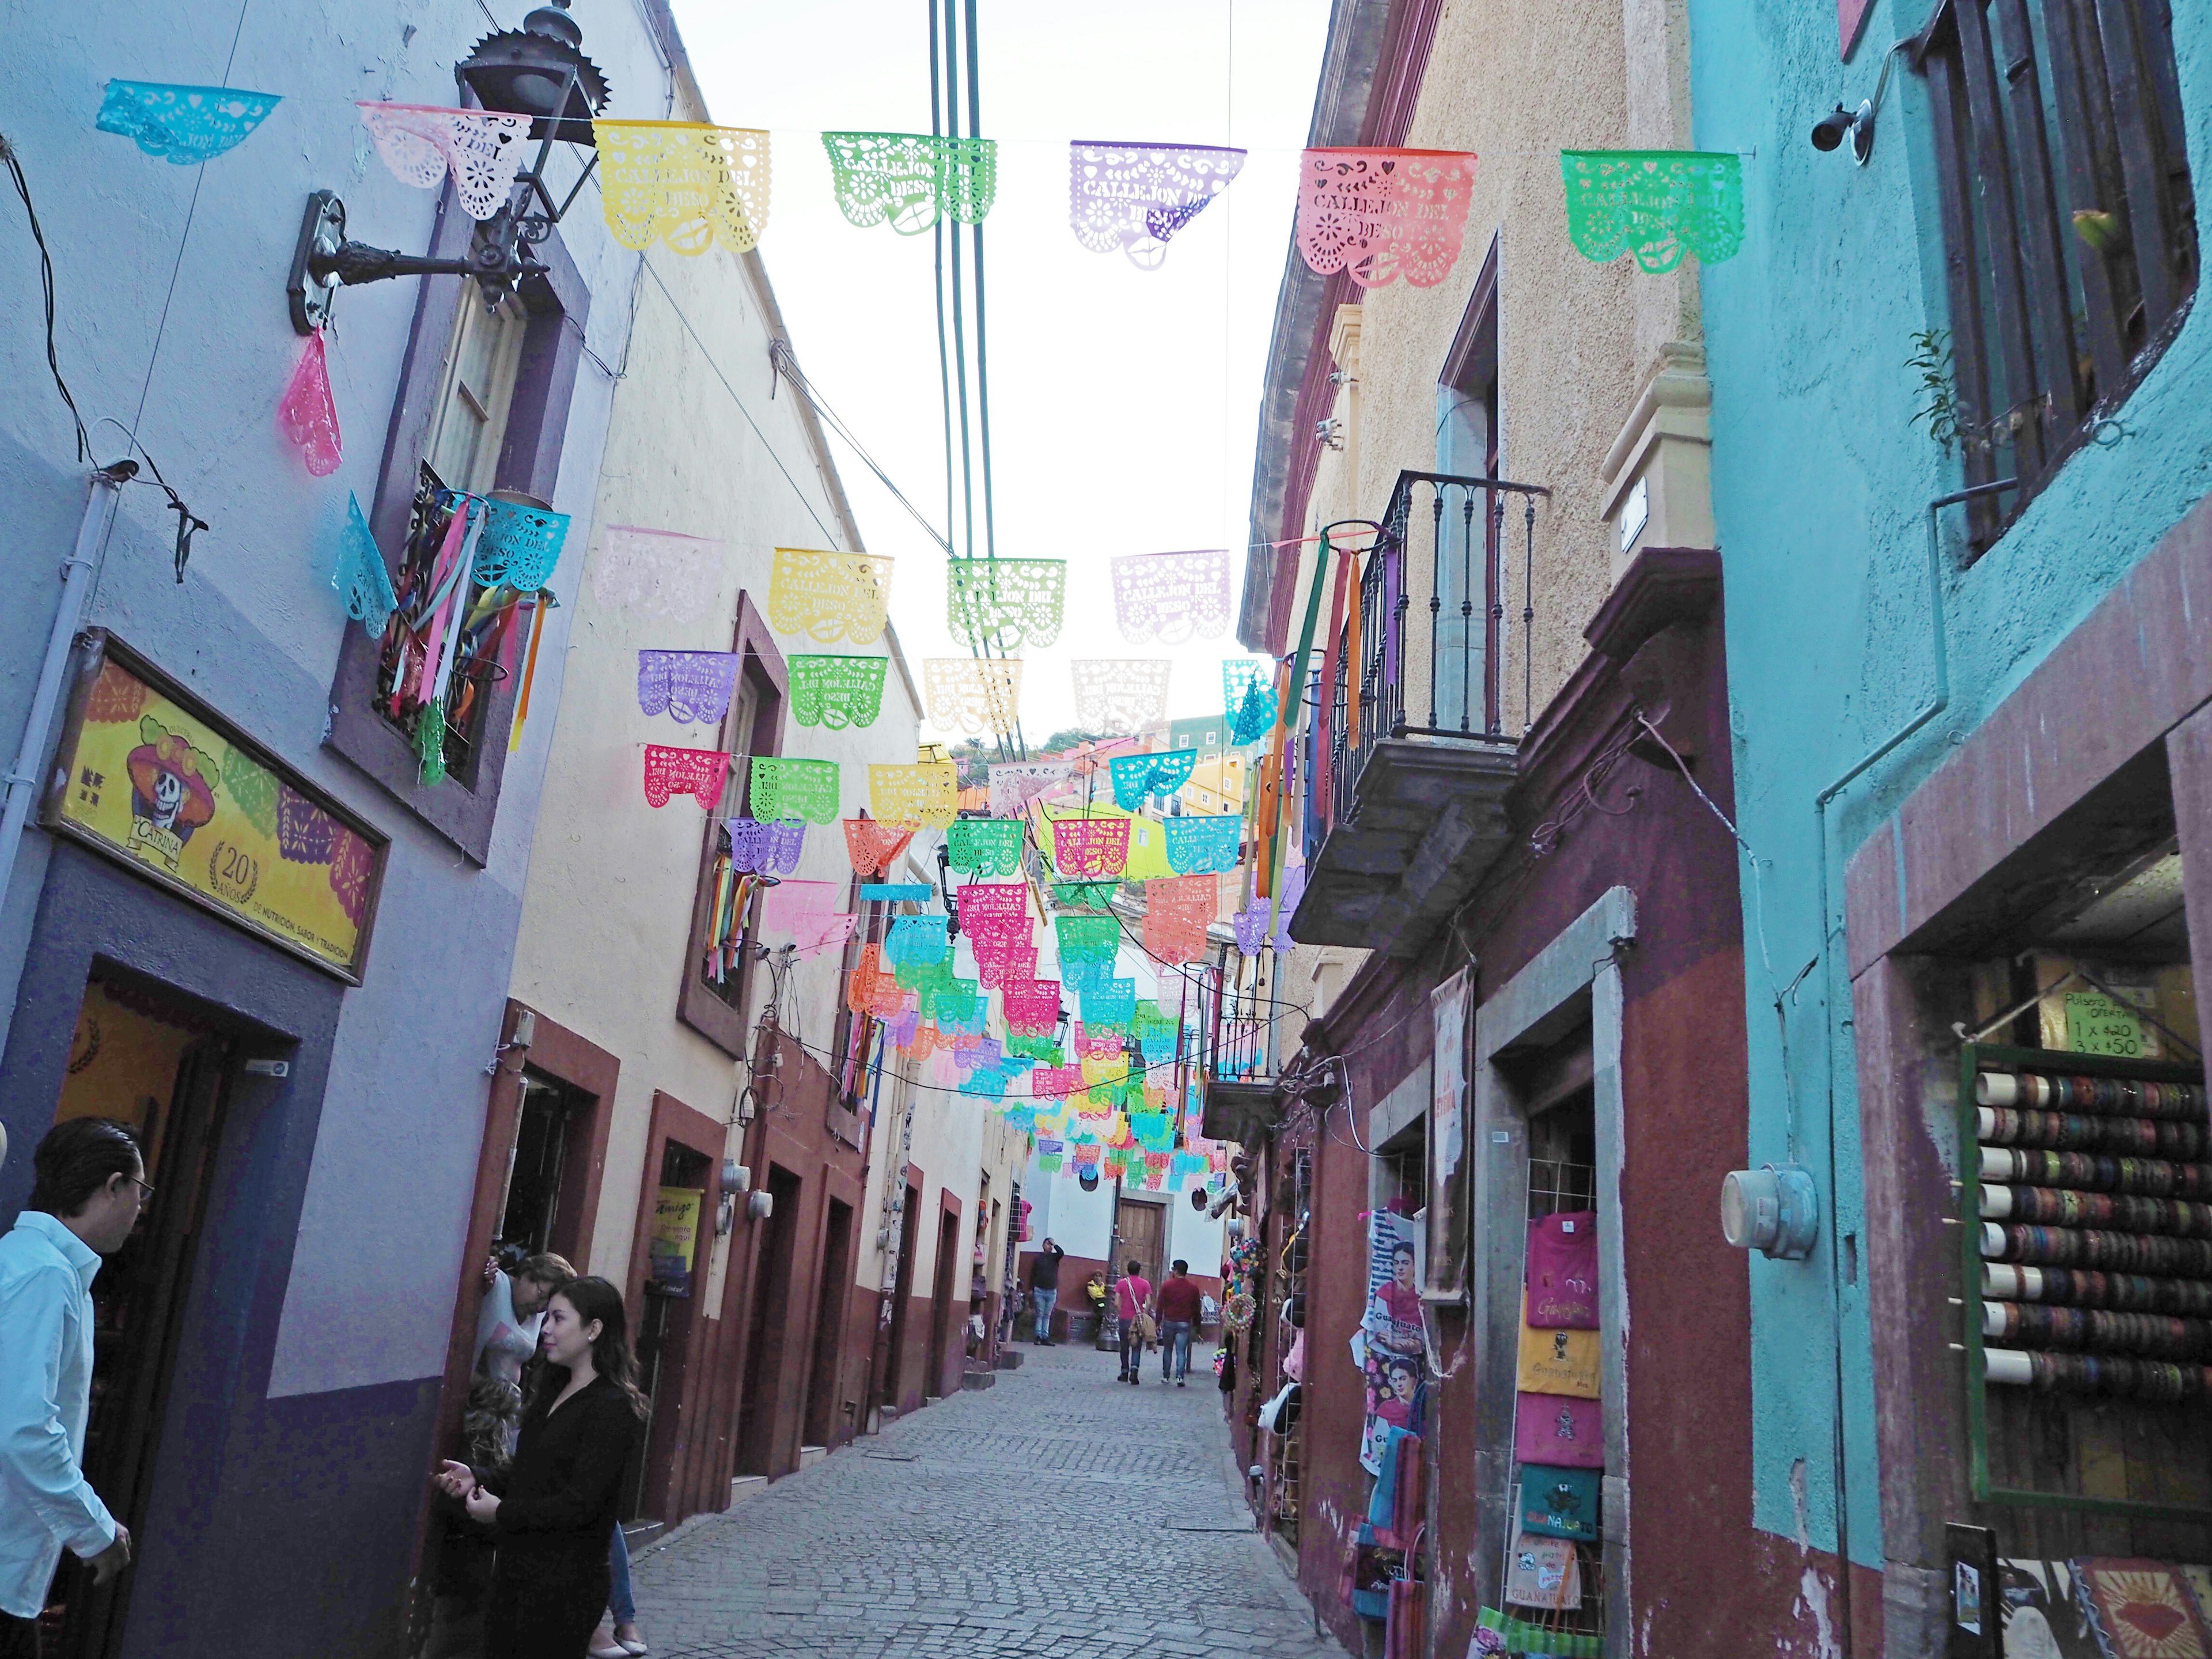
{"type": "MultiPolygon", "coordinates": [[[[929,0],[675,0],[675,15],[712,117],[770,131],[761,259],[801,369],[942,529],[933,239],[849,226],[818,137],[929,131],[929,0]]],[[[1234,628],[1175,648],[1124,641],[1108,560],[1225,546],[1232,582],[1243,575],[1327,20],[1329,0],[980,0],[982,135],[1000,146],[984,219],[998,555],[1068,562],[1060,639],[1022,653],[1031,741],[1075,723],[1075,657],[1168,655],[1168,712],[1221,710],[1221,659],[1243,655],[1234,628]],[[1071,139],[1250,157],[1146,272],[1075,241],[1071,139]]],[[[920,684],[925,659],[969,655],[945,622],[945,555],[849,449],[832,449],[867,549],[898,560],[891,617],[920,684]]],[[[980,518],[980,480],[975,493],[980,518]]],[[[925,737],[962,732],[925,721],[925,737]]]]}

